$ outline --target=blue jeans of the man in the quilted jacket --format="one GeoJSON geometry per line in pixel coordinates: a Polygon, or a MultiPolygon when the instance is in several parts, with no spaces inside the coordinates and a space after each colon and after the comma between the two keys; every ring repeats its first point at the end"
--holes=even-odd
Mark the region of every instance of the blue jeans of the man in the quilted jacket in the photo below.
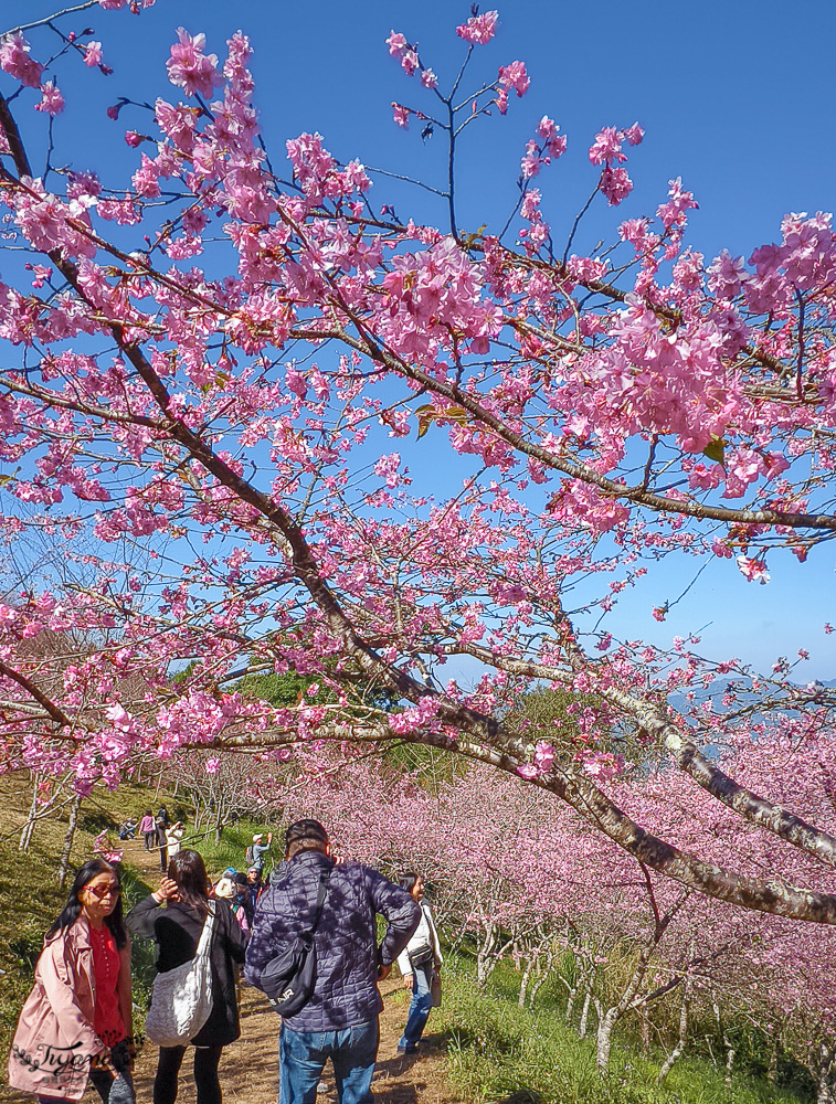
{"type": "Polygon", "coordinates": [[[279,1104],[314,1104],[330,1058],[339,1104],[371,1104],[371,1079],[378,1059],[378,1019],[340,1031],[290,1031],[278,1038],[279,1104]]]}

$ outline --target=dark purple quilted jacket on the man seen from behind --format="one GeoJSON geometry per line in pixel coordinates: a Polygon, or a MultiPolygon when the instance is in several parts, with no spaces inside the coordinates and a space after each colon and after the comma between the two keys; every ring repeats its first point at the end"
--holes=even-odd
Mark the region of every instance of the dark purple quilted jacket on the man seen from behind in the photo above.
{"type": "Polygon", "coordinates": [[[267,963],[310,930],[324,866],[334,870],[314,937],[317,983],[310,1001],[284,1020],[292,1031],[338,1031],[374,1019],[383,1007],[378,992],[375,913],[389,921],[380,947],[384,966],[403,951],[421,920],[412,896],[371,867],[335,866],[321,851],[303,851],[282,863],[258,901],[244,968],[256,988],[267,963]]]}

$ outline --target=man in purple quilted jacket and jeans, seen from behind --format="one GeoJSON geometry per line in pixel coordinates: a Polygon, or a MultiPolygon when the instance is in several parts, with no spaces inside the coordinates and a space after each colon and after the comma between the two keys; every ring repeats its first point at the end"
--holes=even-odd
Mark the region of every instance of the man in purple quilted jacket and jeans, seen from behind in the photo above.
{"type": "Polygon", "coordinates": [[[370,1104],[378,1057],[378,979],[406,946],[421,920],[412,896],[359,862],[335,864],[328,834],[318,820],[297,820],[285,835],[287,861],[262,895],[246,951],[246,979],[261,988],[262,974],[310,926],[319,875],[331,867],[328,895],[314,936],[314,995],[282,1021],[281,1104],[314,1104],[330,1058],[339,1104],[370,1104]],[[375,913],[389,921],[378,949],[375,913]]]}

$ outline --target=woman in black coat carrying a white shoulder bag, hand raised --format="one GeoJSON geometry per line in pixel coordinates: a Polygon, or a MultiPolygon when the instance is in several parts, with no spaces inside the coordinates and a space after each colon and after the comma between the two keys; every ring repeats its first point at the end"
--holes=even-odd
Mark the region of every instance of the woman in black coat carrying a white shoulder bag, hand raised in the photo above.
{"type": "MultiPolygon", "coordinates": [[[[209,955],[212,1010],[190,1042],[195,1048],[198,1104],[220,1104],[218,1063],[221,1051],[241,1034],[233,963],[244,960],[244,934],[225,901],[215,901],[214,909],[209,955]]],[[[165,974],[194,957],[208,915],[207,869],[198,851],[187,848],[172,857],[168,877],[161,880],[159,890],[131,909],[125,923],[135,935],[152,936],[157,941],[157,969],[165,974]],[[166,907],[161,909],[163,903],[166,907]]],[[[184,1053],[186,1047],[160,1047],[154,1104],[174,1104],[177,1075],[184,1053]]]]}

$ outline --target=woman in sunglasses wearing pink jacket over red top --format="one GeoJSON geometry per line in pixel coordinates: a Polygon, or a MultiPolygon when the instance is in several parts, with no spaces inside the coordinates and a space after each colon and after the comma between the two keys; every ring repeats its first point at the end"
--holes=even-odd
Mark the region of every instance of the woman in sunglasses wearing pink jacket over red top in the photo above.
{"type": "Polygon", "coordinates": [[[133,1104],[130,943],[115,867],[91,859],[44,938],[9,1055],[12,1089],[42,1104],[84,1095],[133,1104]]]}

